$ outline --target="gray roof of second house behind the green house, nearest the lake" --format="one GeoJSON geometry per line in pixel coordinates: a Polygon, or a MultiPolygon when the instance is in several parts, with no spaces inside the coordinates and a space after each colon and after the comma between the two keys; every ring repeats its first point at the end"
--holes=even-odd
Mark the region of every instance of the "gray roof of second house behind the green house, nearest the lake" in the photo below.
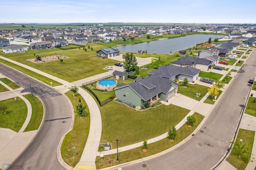
{"type": "Polygon", "coordinates": [[[190,57],[190,56],[181,57],[172,63],[180,64],[180,65],[195,65],[195,64],[210,65],[210,64],[212,64],[212,62],[209,61],[208,59],[195,58],[195,57],[190,57]]]}

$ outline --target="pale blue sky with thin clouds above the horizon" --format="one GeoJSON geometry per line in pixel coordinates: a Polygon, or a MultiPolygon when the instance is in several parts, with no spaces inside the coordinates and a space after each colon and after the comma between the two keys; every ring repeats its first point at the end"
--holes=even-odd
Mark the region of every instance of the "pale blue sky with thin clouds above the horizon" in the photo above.
{"type": "Polygon", "coordinates": [[[256,24],[256,0],[4,0],[0,23],[256,24]]]}

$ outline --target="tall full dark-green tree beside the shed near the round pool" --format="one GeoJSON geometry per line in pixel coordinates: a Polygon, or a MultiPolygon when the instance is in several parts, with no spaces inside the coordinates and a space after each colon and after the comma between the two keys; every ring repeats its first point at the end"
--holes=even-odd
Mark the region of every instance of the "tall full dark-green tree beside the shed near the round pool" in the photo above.
{"type": "Polygon", "coordinates": [[[133,55],[133,53],[126,53],[124,57],[124,63],[123,67],[125,71],[135,71],[136,67],[138,65],[136,57],[133,55]]]}

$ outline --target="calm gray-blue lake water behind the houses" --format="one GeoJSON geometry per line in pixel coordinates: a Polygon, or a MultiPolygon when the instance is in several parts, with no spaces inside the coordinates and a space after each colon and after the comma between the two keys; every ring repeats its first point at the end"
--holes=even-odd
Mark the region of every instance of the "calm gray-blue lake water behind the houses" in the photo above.
{"type": "Polygon", "coordinates": [[[197,34],[197,35],[185,36],[185,37],[179,37],[179,38],[122,45],[116,48],[118,48],[123,53],[126,53],[126,52],[138,53],[138,50],[147,50],[147,52],[150,54],[153,54],[153,53],[169,54],[170,51],[174,53],[176,51],[192,48],[193,45],[196,45],[198,43],[208,42],[210,37],[212,38],[212,42],[215,38],[224,38],[224,36],[219,36],[219,35],[197,34]]]}

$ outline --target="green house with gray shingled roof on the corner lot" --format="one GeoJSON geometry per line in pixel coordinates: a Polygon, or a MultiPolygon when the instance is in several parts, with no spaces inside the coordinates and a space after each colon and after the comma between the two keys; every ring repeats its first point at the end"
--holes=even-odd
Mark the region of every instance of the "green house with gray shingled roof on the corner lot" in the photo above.
{"type": "Polygon", "coordinates": [[[134,82],[120,84],[115,89],[118,101],[127,103],[132,107],[153,105],[159,101],[167,101],[178,91],[178,83],[160,75],[137,77],[134,82]]]}

